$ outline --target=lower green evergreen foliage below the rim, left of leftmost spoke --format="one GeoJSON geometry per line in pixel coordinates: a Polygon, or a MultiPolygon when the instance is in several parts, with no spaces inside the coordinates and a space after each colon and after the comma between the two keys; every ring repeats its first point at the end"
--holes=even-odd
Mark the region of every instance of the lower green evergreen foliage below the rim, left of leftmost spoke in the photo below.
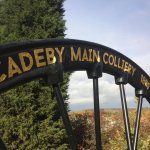
{"type": "Polygon", "coordinates": [[[52,97],[38,81],[1,94],[0,131],[10,149],[49,149],[66,142],[52,97]]]}

